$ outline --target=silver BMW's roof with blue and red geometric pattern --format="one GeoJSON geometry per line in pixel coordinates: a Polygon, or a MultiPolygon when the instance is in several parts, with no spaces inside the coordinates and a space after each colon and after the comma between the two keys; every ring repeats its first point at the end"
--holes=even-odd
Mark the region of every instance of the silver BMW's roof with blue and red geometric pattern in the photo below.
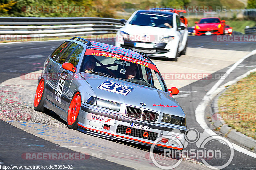
{"type": "Polygon", "coordinates": [[[155,65],[147,55],[136,52],[136,51],[132,51],[132,50],[121,48],[121,47],[116,47],[116,46],[101,43],[101,42],[89,41],[89,40],[86,40],[86,39],[81,38],[81,37],[73,37],[71,39],[76,40],[76,41],[80,41],[80,42],[86,44],[87,48],[90,48],[90,49],[101,50],[101,51],[105,51],[105,52],[115,53],[115,54],[118,54],[118,55],[129,56],[131,58],[139,59],[141,61],[144,61],[144,62],[151,63],[151,64],[155,65]],[[75,38],[77,38],[78,40],[75,39],[75,38]]]}

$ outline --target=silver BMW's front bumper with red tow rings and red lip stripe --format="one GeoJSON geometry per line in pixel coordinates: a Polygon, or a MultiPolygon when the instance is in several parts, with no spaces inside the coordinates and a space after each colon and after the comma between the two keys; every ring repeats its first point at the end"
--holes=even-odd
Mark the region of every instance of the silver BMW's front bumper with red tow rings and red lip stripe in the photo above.
{"type": "Polygon", "coordinates": [[[172,148],[177,150],[183,149],[185,142],[186,128],[175,128],[172,126],[167,127],[162,124],[155,124],[149,122],[143,122],[140,120],[134,120],[124,115],[111,113],[106,110],[101,110],[91,105],[82,105],[79,112],[78,130],[86,134],[103,137],[111,140],[121,140],[126,142],[132,142],[136,144],[142,144],[146,146],[156,145],[156,148],[160,151],[164,151],[166,148],[172,148]],[[100,120],[95,120],[92,115],[97,115],[100,120]],[[103,120],[103,121],[102,121],[103,120]],[[107,121],[105,121],[107,120],[107,121]],[[142,130],[138,128],[132,128],[131,124],[139,124],[142,126],[148,126],[149,129],[142,130]],[[108,126],[109,129],[105,129],[108,126]],[[133,133],[127,133],[125,129],[131,129],[133,133]],[[144,134],[148,133],[147,137],[144,134]],[[183,137],[177,139],[172,137],[172,133],[180,134],[183,137]],[[161,136],[170,136],[167,143],[158,142],[161,140],[161,136]],[[157,141],[157,143],[156,143],[157,141]]]}

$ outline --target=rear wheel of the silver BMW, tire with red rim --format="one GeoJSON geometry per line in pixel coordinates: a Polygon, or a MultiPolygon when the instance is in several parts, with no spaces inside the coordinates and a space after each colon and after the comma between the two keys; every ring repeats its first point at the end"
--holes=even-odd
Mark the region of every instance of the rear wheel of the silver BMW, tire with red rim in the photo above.
{"type": "Polygon", "coordinates": [[[38,83],[38,86],[36,89],[36,94],[35,94],[35,99],[34,99],[34,110],[36,110],[38,112],[49,113],[50,110],[44,107],[45,87],[43,87],[43,94],[40,97],[39,103],[38,103],[38,99],[36,98],[36,95],[38,94],[38,88],[40,88],[39,85],[42,85],[42,82],[43,82],[43,86],[44,86],[45,81],[44,81],[44,79],[41,79],[40,82],[38,83]],[[36,99],[37,99],[37,102],[36,102],[36,99]]]}

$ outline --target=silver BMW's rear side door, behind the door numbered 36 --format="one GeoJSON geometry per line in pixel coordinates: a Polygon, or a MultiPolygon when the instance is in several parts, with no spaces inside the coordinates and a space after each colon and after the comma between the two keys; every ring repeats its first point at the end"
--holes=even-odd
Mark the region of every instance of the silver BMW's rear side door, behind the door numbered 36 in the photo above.
{"type": "Polygon", "coordinates": [[[69,42],[62,43],[58,48],[53,51],[53,53],[49,56],[49,60],[46,66],[45,74],[46,74],[46,85],[45,85],[45,91],[46,91],[46,99],[52,101],[55,81],[56,81],[56,75],[59,71],[60,67],[57,63],[57,59],[60,57],[61,52],[67,47],[69,42]]]}

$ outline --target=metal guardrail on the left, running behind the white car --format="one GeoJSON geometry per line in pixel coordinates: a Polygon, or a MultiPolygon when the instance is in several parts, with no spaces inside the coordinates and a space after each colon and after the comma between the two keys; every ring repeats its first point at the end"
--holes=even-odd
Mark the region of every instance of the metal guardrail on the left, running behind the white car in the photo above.
{"type": "Polygon", "coordinates": [[[0,17],[0,35],[67,37],[116,33],[124,24],[97,17],[0,17]]]}

